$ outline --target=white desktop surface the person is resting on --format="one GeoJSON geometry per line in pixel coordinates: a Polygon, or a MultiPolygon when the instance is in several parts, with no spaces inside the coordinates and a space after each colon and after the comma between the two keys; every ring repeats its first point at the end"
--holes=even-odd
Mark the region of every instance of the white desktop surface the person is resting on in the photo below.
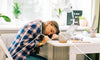
{"type": "MultiPolygon", "coordinates": [[[[99,34],[100,35],[100,34],[99,34]]],[[[100,44],[100,37],[95,37],[95,38],[90,38],[90,37],[85,37],[83,41],[67,41],[67,43],[59,43],[58,40],[49,40],[47,43],[57,46],[57,47],[65,47],[65,46],[73,46],[75,45],[91,45],[91,44],[100,44]]]]}

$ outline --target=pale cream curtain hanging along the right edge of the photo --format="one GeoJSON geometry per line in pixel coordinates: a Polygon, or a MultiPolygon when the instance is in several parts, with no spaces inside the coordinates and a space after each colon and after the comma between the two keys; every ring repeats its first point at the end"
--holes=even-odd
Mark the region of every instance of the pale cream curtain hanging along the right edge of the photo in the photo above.
{"type": "Polygon", "coordinates": [[[95,13],[92,28],[100,32],[100,0],[95,0],[95,13]]]}

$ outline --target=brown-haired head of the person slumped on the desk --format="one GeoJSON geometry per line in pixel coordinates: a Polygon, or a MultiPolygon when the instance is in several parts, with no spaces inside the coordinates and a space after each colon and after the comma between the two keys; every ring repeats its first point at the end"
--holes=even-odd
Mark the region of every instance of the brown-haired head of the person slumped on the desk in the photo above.
{"type": "Polygon", "coordinates": [[[52,34],[59,34],[59,26],[56,21],[48,21],[45,22],[44,34],[52,35],[52,34]]]}

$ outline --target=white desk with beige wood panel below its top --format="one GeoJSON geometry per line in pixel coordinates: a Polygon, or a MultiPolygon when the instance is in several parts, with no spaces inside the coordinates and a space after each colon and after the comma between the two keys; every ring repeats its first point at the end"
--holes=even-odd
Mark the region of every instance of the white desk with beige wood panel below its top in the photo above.
{"type": "Polygon", "coordinates": [[[76,60],[77,54],[100,53],[100,38],[87,38],[87,41],[90,43],[48,41],[48,60],[76,60]]]}

